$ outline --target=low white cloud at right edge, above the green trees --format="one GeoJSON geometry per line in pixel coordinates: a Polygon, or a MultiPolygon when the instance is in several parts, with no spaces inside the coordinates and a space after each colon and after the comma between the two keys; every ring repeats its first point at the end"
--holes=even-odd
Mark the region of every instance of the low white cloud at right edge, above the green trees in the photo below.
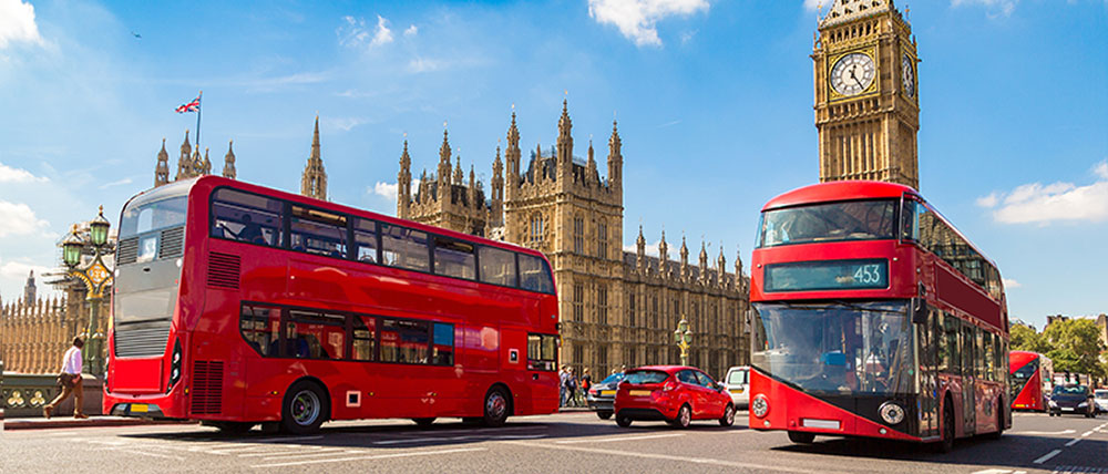
{"type": "Polygon", "coordinates": [[[1010,193],[993,193],[977,198],[977,205],[993,208],[993,218],[1004,224],[1040,224],[1055,220],[1092,221],[1108,219],[1108,159],[1092,168],[1098,181],[1025,184],[1010,193]]]}

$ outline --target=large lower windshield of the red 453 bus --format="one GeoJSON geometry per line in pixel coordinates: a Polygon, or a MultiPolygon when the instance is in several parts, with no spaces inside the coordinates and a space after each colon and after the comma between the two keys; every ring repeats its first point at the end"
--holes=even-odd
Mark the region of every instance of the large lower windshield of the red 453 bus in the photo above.
{"type": "Polygon", "coordinates": [[[904,301],[755,303],[758,369],[808,392],[907,394],[914,328],[904,301]]]}

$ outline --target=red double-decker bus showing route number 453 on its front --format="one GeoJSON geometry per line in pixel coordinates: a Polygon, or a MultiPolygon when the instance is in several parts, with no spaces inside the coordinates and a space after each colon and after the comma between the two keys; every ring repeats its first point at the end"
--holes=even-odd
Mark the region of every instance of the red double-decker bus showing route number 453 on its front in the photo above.
{"type": "Polygon", "coordinates": [[[762,209],[750,426],[938,442],[1012,425],[1001,275],[914,189],[838,182],[762,209]]]}

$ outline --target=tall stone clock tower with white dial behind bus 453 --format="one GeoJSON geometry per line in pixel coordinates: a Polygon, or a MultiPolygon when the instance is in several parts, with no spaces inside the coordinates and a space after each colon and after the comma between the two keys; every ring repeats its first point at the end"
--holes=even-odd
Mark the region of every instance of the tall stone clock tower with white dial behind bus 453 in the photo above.
{"type": "Polygon", "coordinates": [[[833,0],[814,42],[820,183],[875,179],[919,189],[912,27],[893,0],[833,0]]]}

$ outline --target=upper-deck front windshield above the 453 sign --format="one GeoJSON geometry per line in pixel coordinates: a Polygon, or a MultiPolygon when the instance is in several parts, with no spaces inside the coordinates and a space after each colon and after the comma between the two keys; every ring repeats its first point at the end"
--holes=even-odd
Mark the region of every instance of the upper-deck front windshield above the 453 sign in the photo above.
{"type": "Polygon", "coordinates": [[[848,200],[762,213],[757,247],[896,238],[896,202],[848,200]]]}

